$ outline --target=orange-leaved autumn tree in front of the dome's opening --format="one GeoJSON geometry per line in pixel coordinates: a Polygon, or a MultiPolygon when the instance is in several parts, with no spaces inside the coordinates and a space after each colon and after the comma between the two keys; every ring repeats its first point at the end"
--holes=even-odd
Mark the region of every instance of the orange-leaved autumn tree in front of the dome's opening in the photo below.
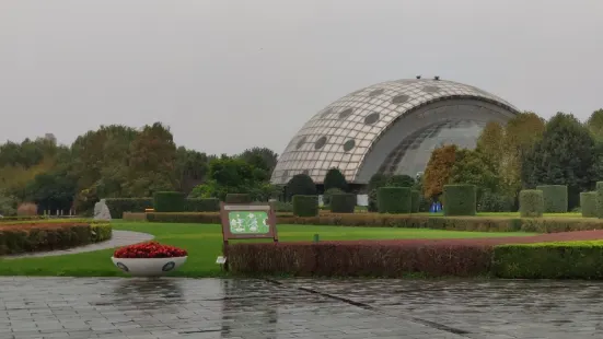
{"type": "Polygon", "coordinates": [[[442,145],[431,152],[424,174],[424,195],[434,199],[442,194],[448,184],[452,166],[454,165],[457,147],[455,144],[442,145]]]}

